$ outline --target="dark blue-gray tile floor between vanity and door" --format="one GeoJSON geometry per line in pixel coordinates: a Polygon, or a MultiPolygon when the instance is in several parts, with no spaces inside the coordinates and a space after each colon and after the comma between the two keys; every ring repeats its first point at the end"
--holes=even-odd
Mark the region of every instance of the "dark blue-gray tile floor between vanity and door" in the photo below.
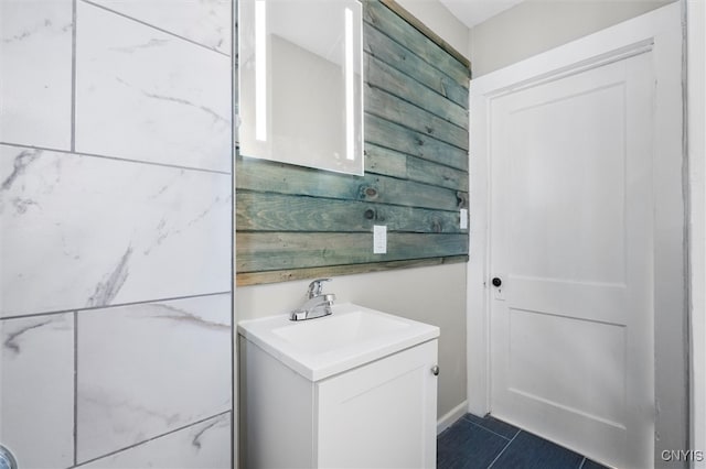
{"type": "Polygon", "coordinates": [[[437,438],[437,469],[606,469],[496,418],[466,414],[437,438]]]}

